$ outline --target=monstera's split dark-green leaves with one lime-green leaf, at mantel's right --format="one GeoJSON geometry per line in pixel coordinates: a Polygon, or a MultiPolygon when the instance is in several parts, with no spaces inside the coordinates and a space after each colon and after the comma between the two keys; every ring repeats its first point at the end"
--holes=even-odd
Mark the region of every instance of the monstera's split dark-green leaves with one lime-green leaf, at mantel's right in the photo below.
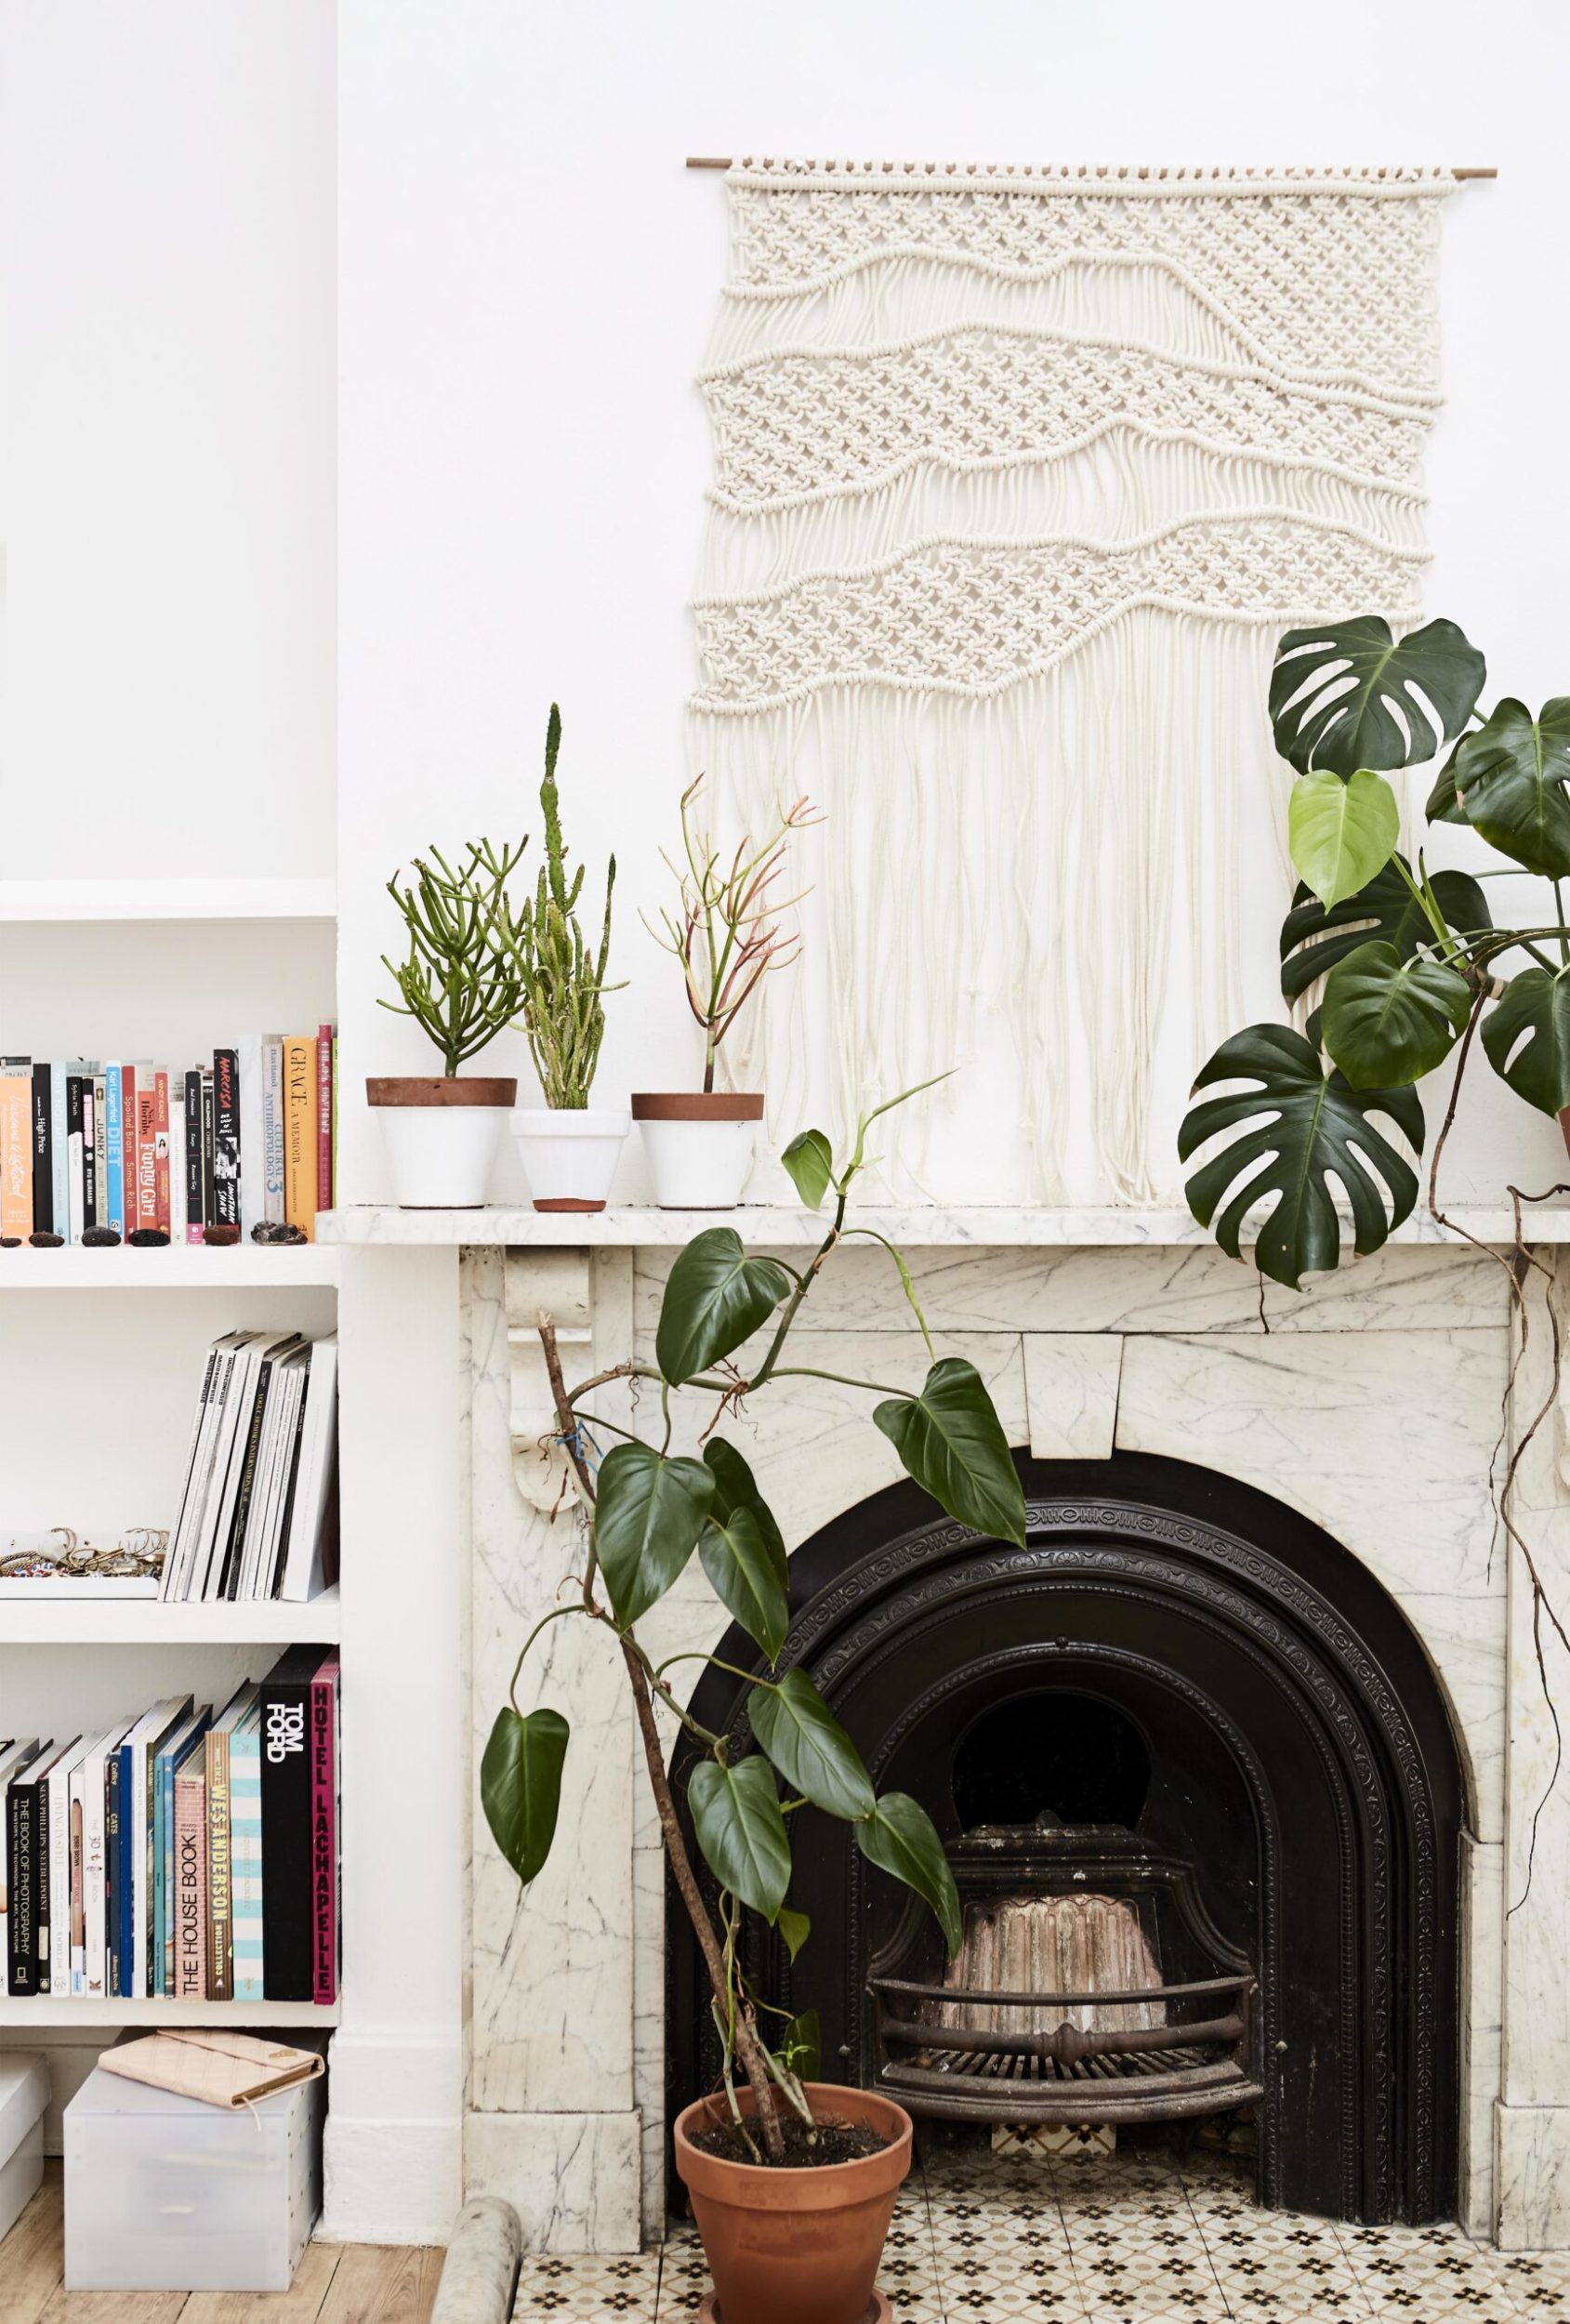
{"type": "Polygon", "coordinates": [[[1335,1267],[1338,1190],[1359,1253],[1417,1204],[1417,1171],[1391,1143],[1424,1146],[1414,1083],[1479,1034],[1510,1088],[1542,1113],[1570,1106],[1570,697],[1537,716],[1477,709],[1484,658],[1452,621],[1393,639],[1377,618],[1289,630],[1270,674],[1275,746],[1294,769],[1291,860],[1301,888],[1282,923],[1282,997],[1324,978],[1308,1030],[1249,1025],[1201,1069],[1178,1134],[1189,1208],[1233,1257],[1270,1202],[1254,1264],[1298,1285],[1335,1267]],[[1387,776],[1442,755],[1428,823],[1470,825],[1505,865],[1431,871],[1398,848],[1387,776]],[[1498,927],[1486,878],[1535,874],[1542,911],[1498,927]],[[1219,1141],[1212,1146],[1212,1141],[1219,1141]]]}

